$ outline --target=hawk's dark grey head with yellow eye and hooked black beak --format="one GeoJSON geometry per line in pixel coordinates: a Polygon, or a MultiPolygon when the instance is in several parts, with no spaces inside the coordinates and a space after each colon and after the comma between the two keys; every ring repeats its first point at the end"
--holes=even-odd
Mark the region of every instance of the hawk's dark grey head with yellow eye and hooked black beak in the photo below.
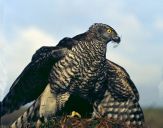
{"type": "Polygon", "coordinates": [[[96,35],[96,37],[105,42],[114,41],[120,43],[120,37],[117,32],[109,25],[102,23],[95,23],[90,28],[89,31],[96,35]]]}

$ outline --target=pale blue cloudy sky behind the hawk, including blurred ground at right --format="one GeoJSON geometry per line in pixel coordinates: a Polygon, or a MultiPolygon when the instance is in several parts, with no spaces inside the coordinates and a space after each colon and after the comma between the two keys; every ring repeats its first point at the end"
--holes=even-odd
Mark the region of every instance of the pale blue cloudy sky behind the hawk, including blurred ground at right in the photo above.
{"type": "Polygon", "coordinates": [[[108,45],[107,58],[130,74],[146,119],[159,128],[156,124],[163,117],[162,7],[161,0],[0,0],[0,100],[37,49],[54,46],[63,37],[101,22],[115,28],[122,38],[118,47],[108,45]]]}

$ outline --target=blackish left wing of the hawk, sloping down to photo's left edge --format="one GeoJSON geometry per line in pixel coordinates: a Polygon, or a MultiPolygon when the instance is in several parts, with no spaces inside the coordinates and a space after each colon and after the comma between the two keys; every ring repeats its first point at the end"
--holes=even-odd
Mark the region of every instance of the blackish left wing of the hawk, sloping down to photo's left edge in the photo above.
{"type": "Polygon", "coordinates": [[[63,58],[74,44],[71,38],[64,38],[56,47],[44,46],[37,50],[1,102],[0,116],[35,100],[46,87],[52,66],[63,58]]]}

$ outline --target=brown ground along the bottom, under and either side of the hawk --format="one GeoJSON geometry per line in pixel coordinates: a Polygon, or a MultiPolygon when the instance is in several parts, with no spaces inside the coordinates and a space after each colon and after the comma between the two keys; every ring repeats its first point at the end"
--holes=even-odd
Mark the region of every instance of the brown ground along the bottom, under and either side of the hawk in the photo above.
{"type": "MultiPolygon", "coordinates": [[[[5,128],[11,122],[13,122],[19,115],[21,115],[25,109],[16,111],[8,116],[1,119],[1,128],[5,128]]],[[[145,120],[147,128],[163,128],[163,108],[146,108],[144,109],[145,120]]],[[[77,128],[129,128],[124,126],[123,123],[113,121],[98,119],[89,121],[87,119],[79,118],[67,118],[62,117],[59,121],[55,118],[51,118],[48,123],[43,124],[42,128],[72,128],[77,126],[77,128]]]]}

